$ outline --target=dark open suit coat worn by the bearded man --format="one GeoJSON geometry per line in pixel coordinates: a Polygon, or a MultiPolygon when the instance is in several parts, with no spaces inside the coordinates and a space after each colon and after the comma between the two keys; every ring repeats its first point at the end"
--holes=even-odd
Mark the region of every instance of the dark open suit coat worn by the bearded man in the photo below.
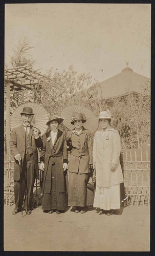
{"type": "MultiPolygon", "coordinates": [[[[30,140],[31,140],[31,146],[33,151],[33,161],[34,161],[34,168],[36,172],[36,176],[39,179],[39,166],[38,166],[38,152],[37,147],[42,146],[42,140],[39,137],[38,139],[34,138],[32,126],[30,125],[30,140]]],[[[24,125],[20,125],[18,127],[15,127],[11,131],[10,136],[10,150],[13,157],[15,157],[17,154],[21,155],[21,167],[23,165],[25,151],[26,151],[26,133],[24,129],[24,125]]],[[[33,171],[33,170],[32,170],[33,171]]],[[[20,167],[18,161],[14,159],[14,180],[18,181],[20,179],[20,167]]]]}

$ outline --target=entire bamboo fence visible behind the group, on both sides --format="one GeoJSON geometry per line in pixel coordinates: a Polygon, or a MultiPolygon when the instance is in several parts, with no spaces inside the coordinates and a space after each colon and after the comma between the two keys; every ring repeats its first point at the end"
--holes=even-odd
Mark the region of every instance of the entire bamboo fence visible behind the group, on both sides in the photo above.
{"type": "MultiPolygon", "coordinates": [[[[4,203],[14,204],[14,161],[4,161],[4,203]]],[[[124,186],[127,205],[150,205],[150,150],[127,150],[123,152],[124,186]]],[[[41,194],[40,182],[36,179],[34,197],[38,205],[41,194]]]]}

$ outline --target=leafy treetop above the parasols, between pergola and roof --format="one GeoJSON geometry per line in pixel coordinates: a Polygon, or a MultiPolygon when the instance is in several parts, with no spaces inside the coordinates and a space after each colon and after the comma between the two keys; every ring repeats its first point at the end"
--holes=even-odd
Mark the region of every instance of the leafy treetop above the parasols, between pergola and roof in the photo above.
{"type": "Polygon", "coordinates": [[[62,109],[72,104],[76,95],[91,84],[92,76],[88,73],[77,74],[73,66],[62,73],[55,72],[51,80],[40,81],[33,87],[35,101],[41,103],[49,113],[60,115],[62,109]]]}

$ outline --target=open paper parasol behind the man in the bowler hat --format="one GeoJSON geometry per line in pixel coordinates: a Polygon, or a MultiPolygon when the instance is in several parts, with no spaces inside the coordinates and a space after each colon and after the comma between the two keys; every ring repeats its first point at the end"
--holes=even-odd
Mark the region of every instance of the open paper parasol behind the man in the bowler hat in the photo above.
{"type": "Polygon", "coordinates": [[[33,109],[34,116],[31,124],[34,127],[37,127],[38,129],[40,129],[41,135],[42,135],[47,130],[48,126],[46,125],[46,123],[49,120],[49,115],[47,111],[43,108],[43,106],[33,102],[28,102],[28,103],[19,105],[18,108],[15,109],[10,120],[11,129],[23,123],[20,113],[23,112],[23,108],[25,106],[30,106],[33,109]]]}

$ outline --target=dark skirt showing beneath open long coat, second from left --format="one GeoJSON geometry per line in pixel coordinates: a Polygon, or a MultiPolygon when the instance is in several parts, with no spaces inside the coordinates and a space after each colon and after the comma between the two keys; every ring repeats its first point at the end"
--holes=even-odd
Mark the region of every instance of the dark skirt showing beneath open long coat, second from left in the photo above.
{"type": "Polygon", "coordinates": [[[58,192],[58,180],[56,180],[56,165],[52,165],[51,192],[43,193],[42,209],[43,210],[65,210],[65,192],[58,192]]]}

